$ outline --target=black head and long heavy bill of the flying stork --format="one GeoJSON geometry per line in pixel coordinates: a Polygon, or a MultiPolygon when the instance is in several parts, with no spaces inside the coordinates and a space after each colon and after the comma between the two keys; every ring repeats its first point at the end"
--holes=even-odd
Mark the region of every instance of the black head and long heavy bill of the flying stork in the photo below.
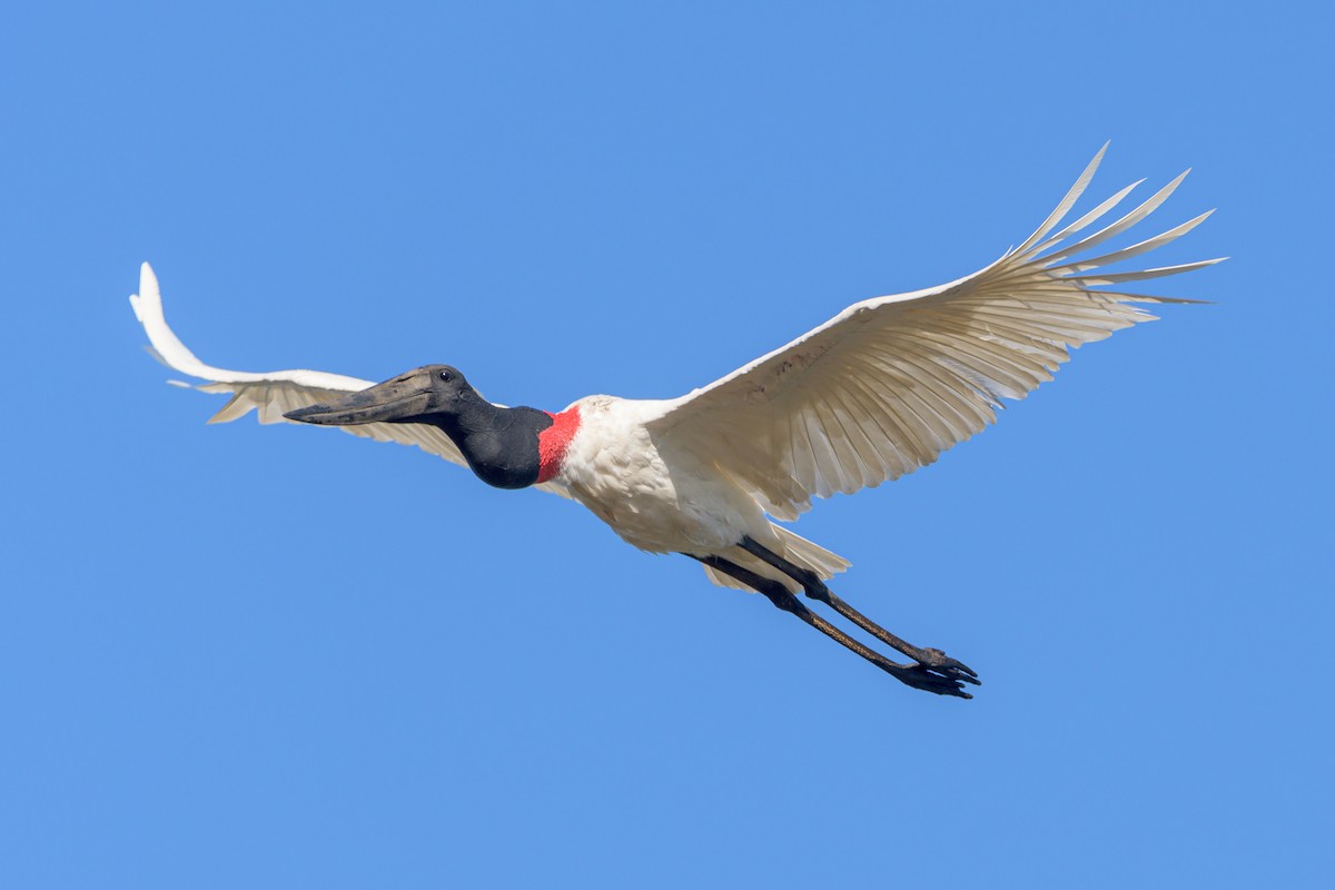
{"type": "Polygon", "coordinates": [[[368,390],[288,411],[283,416],[328,426],[431,423],[453,418],[470,403],[481,400],[482,396],[469,386],[458,368],[426,364],[368,390]]]}

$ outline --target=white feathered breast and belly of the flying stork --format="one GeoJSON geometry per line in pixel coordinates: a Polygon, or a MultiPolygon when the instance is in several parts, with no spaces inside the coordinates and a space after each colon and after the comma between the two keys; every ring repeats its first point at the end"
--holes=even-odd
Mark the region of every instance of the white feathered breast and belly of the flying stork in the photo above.
{"type": "Polygon", "coordinates": [[[589,396],[559,474],[575,500],[651,552],[717,554],[744,535],[772,536],[760,504],[712,464],[661,451],[645,422],[665,403],[589,396]]]}

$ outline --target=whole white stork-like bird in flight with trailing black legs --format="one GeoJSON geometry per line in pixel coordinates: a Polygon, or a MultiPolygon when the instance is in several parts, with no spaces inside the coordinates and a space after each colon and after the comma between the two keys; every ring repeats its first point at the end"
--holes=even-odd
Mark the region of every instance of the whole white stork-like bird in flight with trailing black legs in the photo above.
{"type": "Polygon", "coordinates": [[[207,380],[199,390],[231,395],[211,423],[254,410],[260,423],[334,426],[415,444],[498,488],[573,498],[627,543],[698,560],[713,583],[762,594],[900,682],[972,698],[973,670],[900,639],[840,599],[825,582],[848,560],[773,520],[796,520],[812,498],[852,494],[934,462],[992,423],[1005,399],[1023,399],[1051,380],[1072,347],[1155,318],[1136,304],[1193,302],[1121,287],[1223,258],[1100,270],[1172,242],[1208,212],[1131,247],[1088,255],[1155,211],[1187,173],[1089,235],[1075,238],[1140,183],[1061,226],[1105,151],[1037,231],[991,266],[940,287],[854,303],[677,399],[593,395],[549,412],[487,402],[447,364],[383,383],[323,371],[227,371],[196,359],[167,326],[148,263],[129,302],[159,360],[207,380]],[[854,639],[802,598],[906,660],[854,639]]]}

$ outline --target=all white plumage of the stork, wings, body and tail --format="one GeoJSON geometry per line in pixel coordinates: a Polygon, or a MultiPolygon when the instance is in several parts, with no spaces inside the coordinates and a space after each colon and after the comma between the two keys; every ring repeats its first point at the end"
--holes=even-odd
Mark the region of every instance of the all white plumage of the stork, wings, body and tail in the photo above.
{"type": "MultiPolygon", "coordinates": [[[[678,399],[590,396],[574,403],[581,426],[559,475],[539,487],[573,496],[623,539],[649,551],[720,556],[797,592],[801,584],[738,542],[744,536],[829,578],[848,562],[776,526],[813,496],[850,494],[926,466],[996,419],[1004,399],[1023,399],[1069,358],[1069,350],[1155,316],[1137,303],[1175,303],[1121,290],[1128,282],[1187,272],[1219,259],[1104,274],[1200,224],[1210,213],[1131,247],[1092,248],[1155,211],[1185,173],[1116,221],[1075,239],[1137,185],[1112,195],[1063,228],[1107,145],[1019,247],[949,284],[856,303],[825,324],[733,374],[678,399]]],[[[1141,180],[1143,181],[1143,180],[1141,180]]],[[[155,354],[183,374],[230,392],[214,422],[251,410],[260,423],[370,380],[316,371],[243,374],[207,366],[167,327],[158,282],[146,263],[131,298],[155,354]]],[[[348,432],[421,446],[453,463],[459,448],[439,428],[367,423],[348,432]]],[[[714,583],[746,587],[706,566],[714,583]]]]}

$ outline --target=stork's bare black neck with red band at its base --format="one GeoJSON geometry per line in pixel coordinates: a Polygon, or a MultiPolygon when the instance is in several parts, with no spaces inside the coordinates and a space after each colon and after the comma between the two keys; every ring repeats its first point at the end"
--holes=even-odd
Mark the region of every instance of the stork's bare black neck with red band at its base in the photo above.
{"type": "Polygon", "coordinates": [[[525,488],[561,472],[566,447],[579,427],[579,410],[549,414],[474,399],[433,423],[459,447],[482,482],[497,488],[525,488]]]}

